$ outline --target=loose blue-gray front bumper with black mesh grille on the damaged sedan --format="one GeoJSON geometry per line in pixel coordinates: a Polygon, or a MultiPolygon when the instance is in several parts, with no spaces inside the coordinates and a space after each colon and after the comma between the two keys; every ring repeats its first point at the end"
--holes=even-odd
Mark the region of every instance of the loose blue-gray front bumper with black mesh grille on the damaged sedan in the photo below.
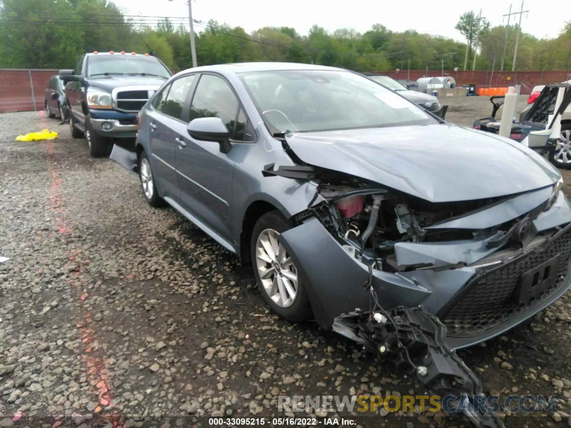
{"type": "Polygon", "coordinates": [[[371,293],[364,284],[372,277],[372,288],[383,308],[423,305],[447,327],[447,345],[464,348],[532,317],[571,285],[571,224],[550,233],[529,250],[504,250],[503,256],[502,250],[494,252],[489,257],[499,257],[500,262],[492,265],[482,259],[473,267],[440,271],[369,270],[315,218],[282,233],[279,240],[304,281],[316,321],[325,329],[343,314],[370,308],[371,293]],[[558,257],[557,263],[554,257],[558,257]],[[550,260],[553,263],[549,264],[550,260]],[[534,269],[545,280],[522,285],[522,278],[533,276],[534,269]]]}

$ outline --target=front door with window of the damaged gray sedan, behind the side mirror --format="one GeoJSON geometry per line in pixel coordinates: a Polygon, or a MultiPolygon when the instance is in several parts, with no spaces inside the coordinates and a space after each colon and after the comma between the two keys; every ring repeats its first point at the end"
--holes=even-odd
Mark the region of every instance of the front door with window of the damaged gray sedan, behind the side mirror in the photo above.
{"type": "MultiPolygon", "coordinates": [[[[219,75],[203,74],[192,97],[187,122],[218,116],[234,138],[239,110],[240,103],[230,84],[219,75]]],[[[228,155],[220,153],[218,143],[192,139],[186,127],[180,129],[179,138],[182,143],[178,144],[175,156],[181,204],[231,242],[234,163],[228,155]]]]}

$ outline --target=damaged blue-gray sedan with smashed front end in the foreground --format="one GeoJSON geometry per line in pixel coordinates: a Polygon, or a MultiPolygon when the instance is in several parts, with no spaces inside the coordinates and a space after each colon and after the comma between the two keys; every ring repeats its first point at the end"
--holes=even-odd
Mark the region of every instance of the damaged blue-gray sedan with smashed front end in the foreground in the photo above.
{"type": "Polygon", "coordinates": [[[198,67],[139,115],[111,158],[251,263],[267,304],[315,319],[454,394],[476,426],[477,377],[454,349],[569,288],[571,208],[548,161],[457,127],[339,68],[198,67]]]}

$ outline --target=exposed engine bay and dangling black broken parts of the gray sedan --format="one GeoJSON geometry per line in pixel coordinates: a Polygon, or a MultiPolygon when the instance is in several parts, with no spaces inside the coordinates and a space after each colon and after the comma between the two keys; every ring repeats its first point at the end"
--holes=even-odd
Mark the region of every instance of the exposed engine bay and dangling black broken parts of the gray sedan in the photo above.
{"type": "MultiPolygon", "coordinates": [[[[444,341],[446,326],[423,306],[383,308],[383,296],[372,286],[373,269],[399,273],[419,269],[455,269],[465,263],[399,265],[398,243],[439,243],[490,238],[491,251],[511,240],[526,245],[537,235],[531,227],[522,233],[522,224],[549,209],[553,198],[531,212],[488,229],[433,228],[459,217],[469,216],[501,204],[506,197],[431,203],[418,197],[380,187],[357,177],[309,165],[264,168],[264,175],[280,175],[313,180],[316,193],[307,211],[293,217],[300,224],[316,217],[349,256],[368,266],[369,280],[363,288],[370,292],[368,310],[355,309],[336,318],[332,329],[360,343],[371,352],[406,373],[416,373],[431,394],[455,395],[456,406],[477,427],[502,427],[501,419],[475,405],[482,395],[480,381],[444,341]],[[320,202],[317,202],[318,198],[320,202]],[[525,243],[524,243],[525,241],[525,243]]],[[[509,199],[509,198],[508,198],[509,199]]],[[[533,225],[533,224],[532,224],[533,225]]]]}

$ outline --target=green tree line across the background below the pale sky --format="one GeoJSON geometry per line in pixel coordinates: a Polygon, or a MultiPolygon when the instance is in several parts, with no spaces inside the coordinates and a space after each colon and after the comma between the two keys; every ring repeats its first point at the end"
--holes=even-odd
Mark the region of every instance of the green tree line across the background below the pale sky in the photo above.
{"type": "MultiPolygon", "coordinates": [[[[74,67],[79,56],[94,50],[153,51],[174,71],[192,66],[183,19],[130,16],[108,0],[53,0],[47,5],[45,0],[0,0],[0,68],[74,67]]],[[[468,70],[476,48],[476,69],[498,70],[506,27],[490,28],[485,20],[475,23],[475,19],[470,12],[456,25],[466,43],[415,30],[398,33],[381,24],[362,34],[349,29],[329,33],[315,25],[302,35],[291,27],[262,27],[247,33],[242,27],[196,21],[196,56],[199,65],[286,61],[356,71],[463,70],[468,46],[468,70]]],[[[516,32],[516,26],[508,28],[504,70],[512,67],[516,32]]],[[[569,70],[571,21],[553,39],[521,33],[516,66],[516,70],[569,70]]]]}

